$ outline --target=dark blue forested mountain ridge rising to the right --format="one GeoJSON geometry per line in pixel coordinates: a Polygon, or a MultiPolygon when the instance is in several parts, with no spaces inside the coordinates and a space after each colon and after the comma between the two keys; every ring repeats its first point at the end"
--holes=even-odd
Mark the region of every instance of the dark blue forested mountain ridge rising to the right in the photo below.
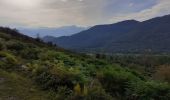
{"type": "Polygon", "coordinates": [[[97,25],[72,36],[45,37],[44,41],[80,52],[170,52],[170,15],[97,25]]]}

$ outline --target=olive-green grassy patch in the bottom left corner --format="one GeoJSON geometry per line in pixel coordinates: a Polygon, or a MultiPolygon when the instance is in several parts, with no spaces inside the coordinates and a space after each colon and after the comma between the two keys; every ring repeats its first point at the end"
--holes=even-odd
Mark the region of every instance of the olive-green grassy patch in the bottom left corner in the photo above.
{"type": "Polygon", "coordinates": [[[47,96],[28,78],[0,70],[0,100],[48,100],[47,96]]]}

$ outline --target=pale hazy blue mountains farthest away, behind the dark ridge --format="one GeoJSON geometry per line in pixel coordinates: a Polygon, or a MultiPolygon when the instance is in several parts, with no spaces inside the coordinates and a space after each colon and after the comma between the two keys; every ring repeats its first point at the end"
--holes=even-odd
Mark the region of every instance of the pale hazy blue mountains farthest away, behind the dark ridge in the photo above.
{"type": "Polygon", "coordinates": [[[60,36],[70,36],[75,33],[81,32],[87,28],[78,27],[78,26],[63,26],[59,28],[19,28],[19,31],[25,35],[36,37],[39,34],[41,37],[45,36],[53,36],[53,37],[60,37],[60,36]]]}

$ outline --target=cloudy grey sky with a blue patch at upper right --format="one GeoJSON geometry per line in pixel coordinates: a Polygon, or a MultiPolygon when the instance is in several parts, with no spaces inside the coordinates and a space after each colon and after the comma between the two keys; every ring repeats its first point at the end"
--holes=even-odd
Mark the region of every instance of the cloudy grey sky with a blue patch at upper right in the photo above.
{"type": "Polygon", "coordinates": [[[170,14],[170,0],[0,0],[0,25],[92,26],[170,14]]]}

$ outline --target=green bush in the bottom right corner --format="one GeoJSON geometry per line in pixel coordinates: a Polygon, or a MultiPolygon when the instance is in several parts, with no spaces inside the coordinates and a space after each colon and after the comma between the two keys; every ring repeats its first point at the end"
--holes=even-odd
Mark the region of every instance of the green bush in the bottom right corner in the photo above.
{"type": "Polygon", "coordinates": [[[169,100],[170,86],[167,83],[158,83],[154,81],[140,82],[137,86],[132,86],[133,95],[138,100],[169,100]]]}

